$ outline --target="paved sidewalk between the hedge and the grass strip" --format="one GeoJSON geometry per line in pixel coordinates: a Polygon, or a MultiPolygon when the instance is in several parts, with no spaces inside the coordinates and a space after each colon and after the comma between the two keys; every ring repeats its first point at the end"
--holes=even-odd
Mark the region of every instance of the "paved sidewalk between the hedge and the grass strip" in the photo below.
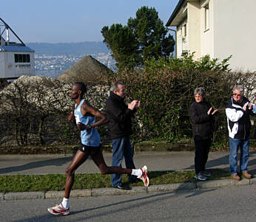
{"type": "MultiPolygon", "coordinates": [[[[147,165],[150,170],[192,170],[194,169],[194,152],[142,152],[135,153],[136,167],[147,165]]],[[[105,161],[111,165],[112,154],[104,153],[105,161]]],[[[8,174],[45,174],[64,173],[70,164],[72,155],[0,155],[0,175],[8,174]]],[[[123,167],[125,164],[123,163],[123,167]]],[[[229,170],[228,152],[210,152],[206,163],[207,168],[221,168],[229,170]]],[[[256,174],[256,151],[250,151],[248,170],[256,174]]],[[[77,173],[100,173],[98,168],[88,159],[77,173]]]]}

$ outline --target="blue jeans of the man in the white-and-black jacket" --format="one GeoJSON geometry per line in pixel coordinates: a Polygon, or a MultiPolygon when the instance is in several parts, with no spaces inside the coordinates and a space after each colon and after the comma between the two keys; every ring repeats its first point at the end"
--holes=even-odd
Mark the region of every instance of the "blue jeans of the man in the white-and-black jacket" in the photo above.
{"type": "Polygon", "coordinates": [[[247,172],[249,162],[249,137],[247,139],[233,139],[229,137],[229,166],[231,175],[238,173],[238,148],[240,147],[240,171],[247,172]]]}

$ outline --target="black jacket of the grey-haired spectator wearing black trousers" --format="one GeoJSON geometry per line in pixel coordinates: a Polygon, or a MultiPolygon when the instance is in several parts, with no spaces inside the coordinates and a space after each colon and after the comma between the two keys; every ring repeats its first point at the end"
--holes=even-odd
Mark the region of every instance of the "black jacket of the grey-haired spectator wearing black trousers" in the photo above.
{"type": "MultiPolygon", "coordinates": [[[[212,114],[207,114],[212,105],[206,101],[190,105],[189,115],[192,119],[193,137],[196,140],[211,139],[214,131],[212,114]]],[[[213,108],[212,108],[213,111],[213,108]]],[[[212,113],[211,111],[211,113],[212,113]]]]}

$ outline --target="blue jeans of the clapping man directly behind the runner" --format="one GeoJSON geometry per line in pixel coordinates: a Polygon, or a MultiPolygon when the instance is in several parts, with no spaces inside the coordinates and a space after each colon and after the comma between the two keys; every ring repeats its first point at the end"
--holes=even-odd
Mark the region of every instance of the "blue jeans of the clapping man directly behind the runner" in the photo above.
{"type": "MultiPolygon", "coordinates": [[[[125,161],[127,169],[135,169],[133,162],[133,149],[129,136],[118,139],[112,139],[112,167],[122,167],[122,161],[125,161]]],[[[136,176],[129,175],[129,181],[135,181],[136,176]]],[[[121,174],[112,174],[112,187],[120,186],[122,180],[121,174]]]]}

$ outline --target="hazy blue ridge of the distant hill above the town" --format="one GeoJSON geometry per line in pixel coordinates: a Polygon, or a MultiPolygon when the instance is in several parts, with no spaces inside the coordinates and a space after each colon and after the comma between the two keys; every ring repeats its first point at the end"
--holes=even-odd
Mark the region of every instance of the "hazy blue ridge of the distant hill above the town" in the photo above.
{"type": "Polygon", "coordinates": [[[92,55],[95,53],[108,53],[106,44],[102,41],[85,41],[81,43],[27,43],[36,54],[42,55],[92,55]]]}

